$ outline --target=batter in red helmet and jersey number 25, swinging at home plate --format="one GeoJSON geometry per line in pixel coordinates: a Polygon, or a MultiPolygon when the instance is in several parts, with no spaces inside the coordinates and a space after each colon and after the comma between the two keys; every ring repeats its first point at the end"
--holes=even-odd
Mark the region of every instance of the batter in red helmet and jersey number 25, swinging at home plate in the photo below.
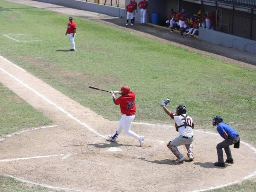
{"type": "Polygon", "coordinates": [[[119,91],[111,91],[111,95],[115,105],[120,105],[122,117],[119,120],[116,131],[112,135],[108,135],[106,140],[116,142],[117,136],[124,130],[125,134],[139,140],[142,147],[144,137],[131,131],[131,122],[133,122],[136,113],[135,93],[130,91],[130,87],[124,85],[119,91]],[[117,93],[121,94],[121,96],[116,99],[115,94],[117,93]]]}

